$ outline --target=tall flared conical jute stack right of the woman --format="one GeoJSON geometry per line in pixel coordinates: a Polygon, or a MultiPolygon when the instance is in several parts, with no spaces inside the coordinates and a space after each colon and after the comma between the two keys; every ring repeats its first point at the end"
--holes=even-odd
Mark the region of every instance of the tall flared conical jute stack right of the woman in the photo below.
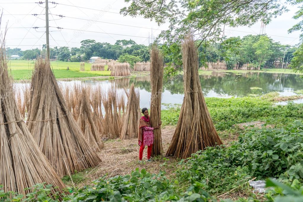
{"type": "Polygon", "coordinates": [[[187,158],[205,147],[223,144],[211,120],[198,75],[198,51],[192,36],[182,44],[184,100],[167,156],[187,158]]]}

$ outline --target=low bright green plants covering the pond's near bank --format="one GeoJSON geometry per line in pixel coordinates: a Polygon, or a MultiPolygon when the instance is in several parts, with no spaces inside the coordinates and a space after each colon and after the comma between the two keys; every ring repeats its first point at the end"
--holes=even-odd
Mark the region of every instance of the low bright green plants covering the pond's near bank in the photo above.
{"type": "MultiPolygon", "coordinates": [[[[233,124],[248,121],[268,121],[284,124],[295,119],[303,119],[303,104],[273,106],[271,100],[275,95],[263,98],[205,98],[211,119],[218,131],[229,129],[233,124]]],[[[180,106],[167,106],[161,111],[164,125],[175,125],[178,122],[180,106]]]]}

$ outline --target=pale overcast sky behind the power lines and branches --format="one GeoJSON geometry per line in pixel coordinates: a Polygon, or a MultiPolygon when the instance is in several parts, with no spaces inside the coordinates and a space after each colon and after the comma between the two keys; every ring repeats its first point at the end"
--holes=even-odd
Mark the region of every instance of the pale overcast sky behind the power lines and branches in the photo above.
{"type": "MultiPolygon", "coordinates": [[[[100,12],[86,8],[76,8],[66,5],[53,5],[49,3],[50,12],[56,15],[64,15],[66,17],[49,15],[49,26],[61,27],[61,31],[57,28],[50,28],[50,45],[53,46],[68,46],[80,47],[80,41],[85,39],[94,39],[97,42],[115,43],[116,40],[132,39],[138,44],[148,45],[148,35],[151,33],[156,37],[161,29],[165,29],[167,25],[158,26],[149,19],[142,17],[132,18],[130,16],[122,16],[119,13],[120,8],[127,4],[124,0],[102,0],[102,1],[78,1],[78,0],[52,0],[57,3],[74,5],[78,7],[94,8],[106,10],[108,12],[100,12]],[[68,18],[73,17],[73,18],[68,18]],[[92,22],[74,18],[83,18],[88,20],[109,22],[92,22]],[[55,19],[55,20],[54,20],[55,19]],[[123,26],[123,25],[132,25],[123,26]],[[142,28],[140,28],[142,27],[142,28]],[[151,29],[152,28],[152,29],[151,29]],[[85,31],[75,31],[68,29],[77,29],[85,31]],[[88,32],[92,31],[92,32],[88,32]],[[95,33],[95,32],[103,33],[95,33]],[[119,35],[120,34],[120,35],[119,35]],[[123,36],[129,35],[129,36],[123,36]]],[[[45,4],[41,7],[35,3],[19,4],[18,2],[38,2],[34,0],[3,0],[0,2],[0,9],[3,9],[2,25],[8,22],[8,32],[6,45],[11,48],[21,48],[22,50],[29,48],[39,48],[45,44],[45,28],[28,28],[28,27],[45,27],[45,15],[16,15],[16,14],[45,14],[45,4]],[[17,2],[16,4],[5,4],[5,2],[17,2]],[[42,18],[42,19],[39,19],[42,18]],[[11,28],[10,28],[11,27],[11,28]],[[21,27],[21,28],[14,28],[21,27]],[[24,38],[24,39],[23,39],[24,38]]],[[[269,25],[266,25],[265,33],[274,41],[280,41],[282,44],[295,45],[299,42],[300,32],[287,33],[287,30],[292,27],[298,20],[292,19],[294,13],[298,10],[296,6],[288,6],[290,11],[278,18],[272,20],[269,25]],[[275,36],[274,36],[275,35],[275,36]],[[283,37],[281,37],[283,36],[283,37]]],[[[245,36],[248,34],[259,34],[261,22],[252,27],[227,28],[225,35],[245,36]]],[[[3,30],[3,29],[2,29],[3,30]]],[[[150,39],[151,42],[151,39],[150,39]]]]}

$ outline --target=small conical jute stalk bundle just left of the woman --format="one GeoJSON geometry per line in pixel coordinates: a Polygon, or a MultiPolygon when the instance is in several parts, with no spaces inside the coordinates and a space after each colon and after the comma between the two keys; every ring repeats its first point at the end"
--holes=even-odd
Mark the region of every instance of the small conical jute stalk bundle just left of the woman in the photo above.
{"type": "Polygon", "coordinates": [[[131,85],[129,91],[125,90],[128,101],[125,115],[123,115],[123,124],[120,132],[120,139],[124,140],[125,135],[128,137],[138,137],[138,116],[140,116],[140,98],[139,91],[135,90],[134,84],[131,85]]]}

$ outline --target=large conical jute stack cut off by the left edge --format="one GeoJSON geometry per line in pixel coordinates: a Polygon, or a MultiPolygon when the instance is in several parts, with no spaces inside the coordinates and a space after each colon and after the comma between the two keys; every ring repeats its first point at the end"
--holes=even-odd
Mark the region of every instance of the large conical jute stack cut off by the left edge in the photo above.
{"type": "MultiPolygon", "coordinates": [[[[1,17],[0,17],[1,25],[1,17]]],[[[0,33],[0,184],[3,190],[24,196],[35,184],[52,184],[62,193],[65,185],[37,146],[18,111],[5,57],[5,35],[0,33]]]]}

